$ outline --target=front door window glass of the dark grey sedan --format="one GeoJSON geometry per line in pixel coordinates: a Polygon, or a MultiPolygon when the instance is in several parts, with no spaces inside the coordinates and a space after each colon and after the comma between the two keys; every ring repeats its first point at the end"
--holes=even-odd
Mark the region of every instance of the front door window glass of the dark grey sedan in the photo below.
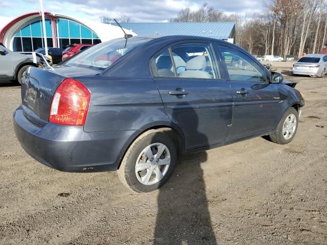
{"type": "Polygon", "coordinates": [[[267,82],[265,71],[250,57],[233,48],[220,46],[229,79],[232,81],[267,82]]]}

